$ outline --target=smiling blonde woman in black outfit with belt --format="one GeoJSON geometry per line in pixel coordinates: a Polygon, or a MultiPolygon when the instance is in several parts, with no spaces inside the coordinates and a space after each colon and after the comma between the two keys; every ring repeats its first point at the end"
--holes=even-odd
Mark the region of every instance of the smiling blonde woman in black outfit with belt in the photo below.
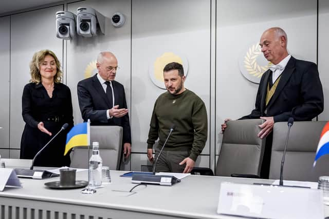
{"type": "Polygon", "coordinates": [[[34,155],[68,123],[47,148],[35,159],[34,166],[69,166],[64,156],[66,134],[73,126],[70,89],[61,83],[62,71],[56,55],[50,50],[34,53],[30,63],[30,83],[22,96],[22,115],[26,123],[21,140],[21,159],[34,155]]]}

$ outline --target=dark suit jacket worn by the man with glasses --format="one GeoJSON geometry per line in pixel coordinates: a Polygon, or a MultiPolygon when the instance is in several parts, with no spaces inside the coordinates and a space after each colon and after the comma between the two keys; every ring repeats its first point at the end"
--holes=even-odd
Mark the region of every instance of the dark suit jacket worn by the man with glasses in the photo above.
{"type": "MultiPolygon", "coordinates": [[[[119,108],[127,108],[123,85],[112,81],[112,86],[114,105],[119,105],[119,108]]],[[[123,128],[122,143],[131,144],[129,115],[126,114],[120,118],[113,117],[107,120],[106,110],[111,109],[112,104],[109,103],[97,74],[78,83],[78,99],[82,118],[85,122],[89,118],[91,125],[121,126],[123,128]]]]}

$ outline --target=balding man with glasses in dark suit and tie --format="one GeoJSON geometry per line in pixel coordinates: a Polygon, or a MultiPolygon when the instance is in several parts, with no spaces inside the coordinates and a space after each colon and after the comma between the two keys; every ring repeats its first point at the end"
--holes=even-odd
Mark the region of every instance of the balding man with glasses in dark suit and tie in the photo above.
{"type": "Polygon", "coordinates": [[[123,128],[123,153],[131,153],[131,129],[124,87],[114,81],[118,61],[111,52],[97,57],[98,73],[78,83],[78,99],[83,120],[91,125],[115,125],[123,128]]]}

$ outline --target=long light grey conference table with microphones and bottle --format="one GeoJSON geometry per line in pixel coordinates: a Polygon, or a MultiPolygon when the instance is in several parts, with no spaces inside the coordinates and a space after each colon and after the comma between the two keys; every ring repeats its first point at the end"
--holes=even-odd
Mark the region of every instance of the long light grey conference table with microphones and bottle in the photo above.
{"type": "MultiPolygon", "coordinates": [[[[7,165],[7,167],[10,167],[7,165]]],[[[11,166],[13,167],[13,166],[11,166]]],[[[44,180],[21,178],[22,188],[0,192],[0,218],[241,218],[217,214],[221,183],[272,183],[273,180],[189,175],[173,186],[140,185],[127,171],[111,171],[111,184],[94,194],[80,189],[49,189],[44,180]]],[[[87,180],[87,171],[77,172],[76,180],[87,180]]],[[[325,216],[329,209],[325,206],[325,216]]]]}

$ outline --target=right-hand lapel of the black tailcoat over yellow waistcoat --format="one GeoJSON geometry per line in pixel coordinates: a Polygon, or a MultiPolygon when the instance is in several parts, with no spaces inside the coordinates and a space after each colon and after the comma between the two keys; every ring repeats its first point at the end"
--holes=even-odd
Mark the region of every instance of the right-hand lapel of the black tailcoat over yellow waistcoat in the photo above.
{"type": "Polygon", "coordinates": [[[271,105],[276,101],[282,89],[286,86],[287,82],[289,81],[289,78],[291,77],[291,74],[293,74],[293,72],[295,71],[295,64],[296,64],[296,59],[293,56],[291,56],[289,62],[287,63],[284,71],[281,74],[281,78],[278,87],[276,89],[276,92],[273,94],[272,98],[268,103],[267,106],[268,108],[271,107],[271,105]]]}

